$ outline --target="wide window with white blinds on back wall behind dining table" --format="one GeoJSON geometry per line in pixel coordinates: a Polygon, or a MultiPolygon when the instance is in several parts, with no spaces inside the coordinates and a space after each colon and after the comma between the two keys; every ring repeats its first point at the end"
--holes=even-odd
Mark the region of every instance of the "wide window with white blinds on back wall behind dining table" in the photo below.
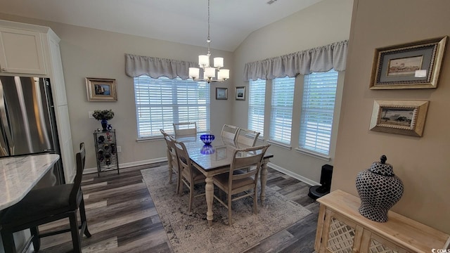
{"type": "Polygon", "coordinates": [[[174,122],[197,122],[198,131],[210,130],[210,85],[147,75],[134,77],[138,138],[173,133],[174,122]]]}

